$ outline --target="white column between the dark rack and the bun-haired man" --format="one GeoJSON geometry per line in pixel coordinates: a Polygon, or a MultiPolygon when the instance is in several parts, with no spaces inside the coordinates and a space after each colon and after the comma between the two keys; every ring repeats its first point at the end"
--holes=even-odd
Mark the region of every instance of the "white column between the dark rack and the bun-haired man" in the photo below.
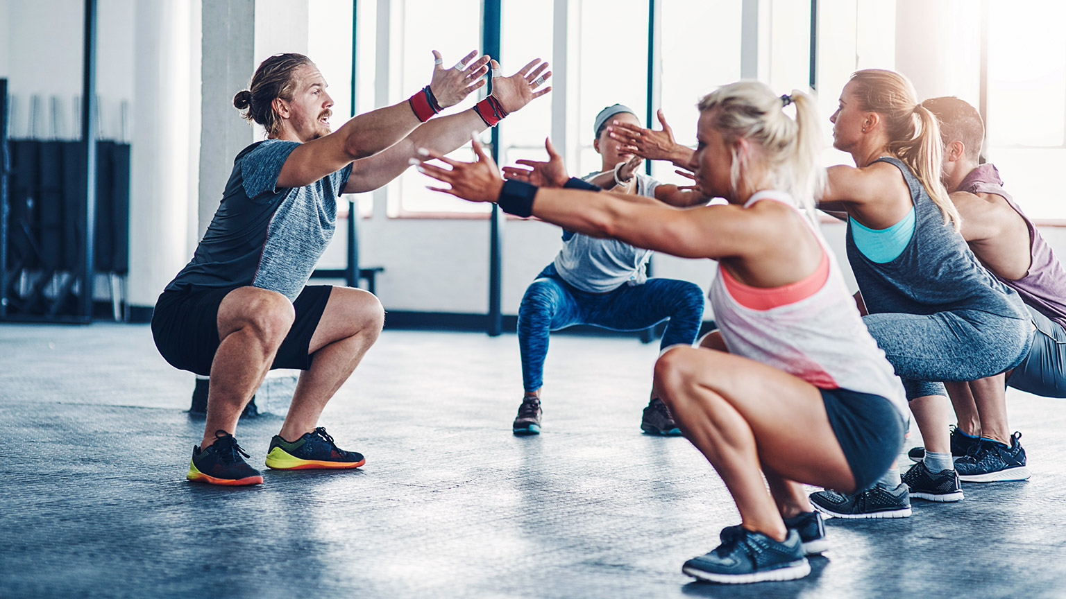
{"type": "Polygon", "coordinates": [[[147,320],[163,286],[190,258],[194,14],[184,0],[134,5],[128,286],[133,321],[147,320]]]}

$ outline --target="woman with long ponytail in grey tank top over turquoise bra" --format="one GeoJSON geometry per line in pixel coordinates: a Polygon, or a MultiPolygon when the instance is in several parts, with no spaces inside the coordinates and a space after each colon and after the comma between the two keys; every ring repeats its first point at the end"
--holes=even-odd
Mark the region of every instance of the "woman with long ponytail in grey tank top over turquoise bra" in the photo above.
{"type": "MultiPolygon", "coordinates": [[[[846,213],[847,258],[869,311],[863,320],[903,378],[926,458],[903,476],[906,486],[892,469],[863,493],[822,491],[811,500],[852,518],[883,517],[909,504],[908,495],[958,501],[963,492],[951,462],[950,412],[940,382],[975,381],[1017,366],[1032,343],[1028,312],[958,233],[958,212],[939,179],[936,117],[918,103],[905,77],[855,72],[830,122],[834,146],[851,153],[856,167],[828,169],[820,207],[846,213]],[[877,236],[911,216],[909,239],[888,256],[871,256],[856,243],[858,233],[877,236]]],[[[1003,390],[999,393],[1002,401],[1003,390]]]]}

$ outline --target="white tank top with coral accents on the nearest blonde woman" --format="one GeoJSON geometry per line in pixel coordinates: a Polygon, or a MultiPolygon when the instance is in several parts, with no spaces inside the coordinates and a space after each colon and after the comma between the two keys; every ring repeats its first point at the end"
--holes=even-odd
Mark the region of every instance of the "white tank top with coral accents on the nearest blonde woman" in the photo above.
{"type": "MultiPolygon", "coordinates": [[[[801,213],[792,197],[780,191],[758,192],[744,208],[763,199],[785,204],[801,213]]],[[[849,389],[881,395],[906,419],[907,401],[900,378],[867,330],[833,252],[806,216],[804,222],[822,247],[824,266],[804,281],[772,290],[756,289],[740,284],[724,269],[718,269],[708,297],[729,353],[772,366],[820,389],[849,389]],[[788,288],[809,289],[805,284],[815,276],[824,282],[812,293],[792,300],[782,295],[782,291],[787,295],[788,288]],[[769,292],[785,302],[750,307],[750,302],[744,305],[738,301],[730,288],[734,292],[743,288],[745,294],[752,295],[769,292]]]]}

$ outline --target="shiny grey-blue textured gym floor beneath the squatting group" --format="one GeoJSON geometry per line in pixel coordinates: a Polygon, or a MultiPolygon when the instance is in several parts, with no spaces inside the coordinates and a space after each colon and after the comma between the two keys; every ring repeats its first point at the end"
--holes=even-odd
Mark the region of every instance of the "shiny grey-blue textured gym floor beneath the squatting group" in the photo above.
{"type": "Polygon", "coordinates": [[[517,438],[513,335],[386,330],[322,422],[367,465],[265,470],[266,415],[237,432],[265,483],[235,489],[185,482],[193,376],[147,326],[2,325],[0,596],[1066,596],[1064,404],[1017,391],[1030,482],[829,520],[801,581],[692,582],[739,517],[687,440],[640,434],[657,350],[553,336],[544,434],[517,438]]]}

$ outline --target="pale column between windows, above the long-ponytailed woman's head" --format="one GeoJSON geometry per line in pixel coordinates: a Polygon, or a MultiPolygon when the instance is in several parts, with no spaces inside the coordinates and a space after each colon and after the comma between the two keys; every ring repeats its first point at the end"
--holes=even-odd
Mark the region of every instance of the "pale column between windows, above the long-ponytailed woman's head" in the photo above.
{"type": "Polygon", "coordinates": [[[978,106],[981,86],[981,3],[897,0],[895,69],[919,99],[958,96],[978,106]]]}

